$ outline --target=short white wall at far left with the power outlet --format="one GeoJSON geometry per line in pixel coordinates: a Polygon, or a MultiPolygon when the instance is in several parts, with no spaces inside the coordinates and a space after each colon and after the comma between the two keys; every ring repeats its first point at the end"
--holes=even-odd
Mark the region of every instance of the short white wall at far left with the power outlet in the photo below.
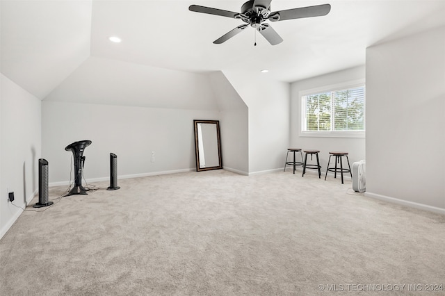
{"type": "Polygon", "coordinates": [[[41,155],[41,101],[1,74],[0,238],[38,191],[41,155]]]}

